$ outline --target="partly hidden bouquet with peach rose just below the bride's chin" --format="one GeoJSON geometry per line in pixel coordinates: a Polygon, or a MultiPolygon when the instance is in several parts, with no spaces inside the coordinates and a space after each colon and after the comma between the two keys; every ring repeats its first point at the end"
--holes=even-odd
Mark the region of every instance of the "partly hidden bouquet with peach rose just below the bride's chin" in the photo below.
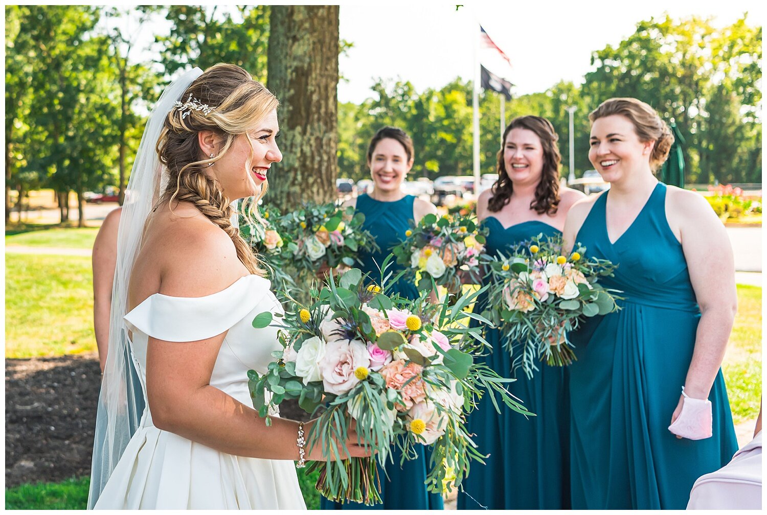
{"type": "MultiPolygon", "coordinates": [[[[244,202],[249,201],[251,199],[245,199],[244,202]]],[[[245,209],[247,208],[245,205],[245,209]]],[[[294,283],[290,274],[285,273],[285,262],[289,257],[285,238],[281,235],[283,229],[275,223],[281,218],[280,212],[276,208],[263,205],[259,205],[257,209],[260,220],[249,220],[242,213],[239,215],[240,235],[267,268],[275,289],[287,290],[288,286],[294,283]]]]}

